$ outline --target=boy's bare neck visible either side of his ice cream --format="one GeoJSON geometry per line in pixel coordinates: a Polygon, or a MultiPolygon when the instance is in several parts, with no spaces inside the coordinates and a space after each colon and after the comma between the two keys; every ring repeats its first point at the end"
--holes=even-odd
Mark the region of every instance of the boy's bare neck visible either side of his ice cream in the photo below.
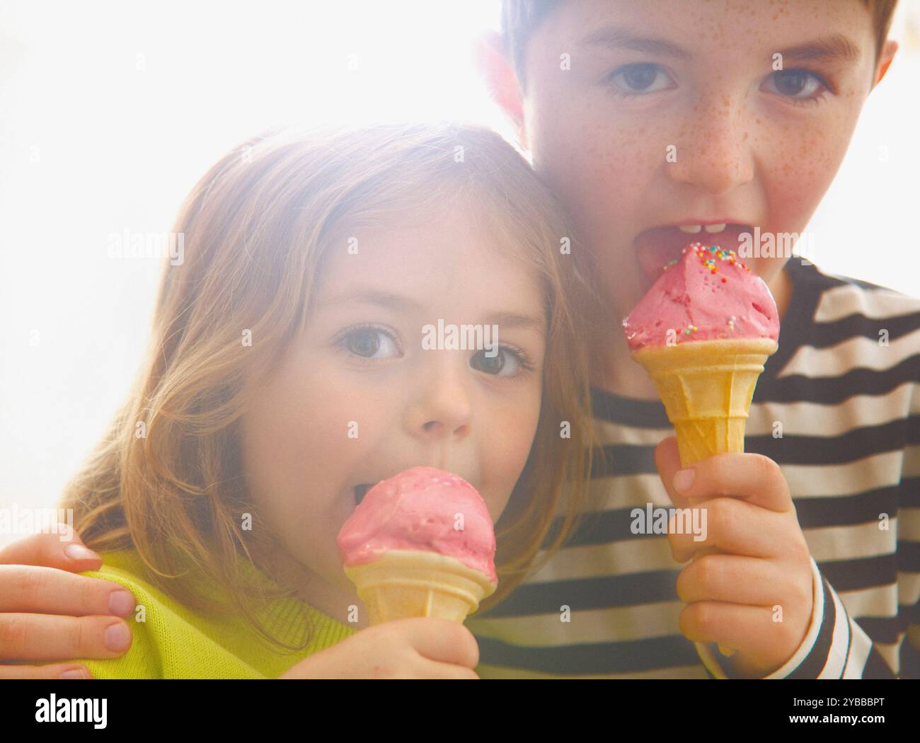
{"type": "MultiPolygon", "coordinates": [[[[791,258],[795,259],[795,258],[791,258]]],[[[768,284],[776,300],[776,311],[782,323],[786,317],[789,300],[792,298],[792,281],[788,272],[780,269],[768,284]]],[[[629,356],[629,347],[623,330],[613,326],[599,341],[601,355],[592,367],[592,387],[602,389],[621,397],[638,400],[658,400],[658,389],[646,371],[629,356]],[[615,335],[616,334],[616,335],[615,335]]]]}

